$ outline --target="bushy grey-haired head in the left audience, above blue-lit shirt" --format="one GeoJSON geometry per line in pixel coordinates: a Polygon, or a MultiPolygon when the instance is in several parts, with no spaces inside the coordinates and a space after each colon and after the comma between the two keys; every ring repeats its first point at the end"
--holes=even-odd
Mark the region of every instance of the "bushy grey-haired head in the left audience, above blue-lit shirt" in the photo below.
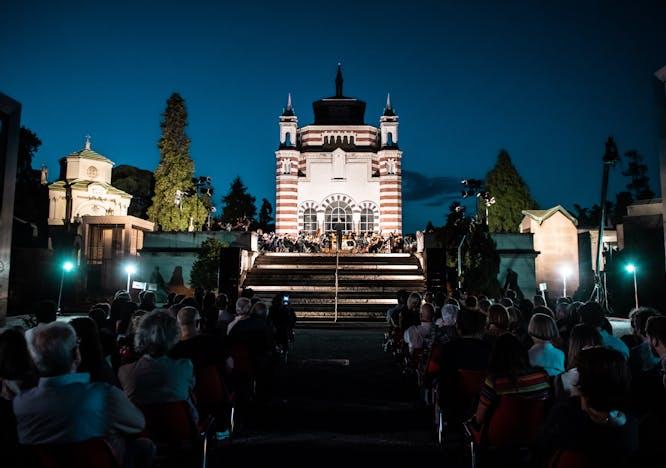
{"type": "Polygon", "coordinates": [[[178,324],[166,311],[155,310],[143,316],[134,335],[134,347],[152,357],[166,355],[178,342],[178,324]]]}

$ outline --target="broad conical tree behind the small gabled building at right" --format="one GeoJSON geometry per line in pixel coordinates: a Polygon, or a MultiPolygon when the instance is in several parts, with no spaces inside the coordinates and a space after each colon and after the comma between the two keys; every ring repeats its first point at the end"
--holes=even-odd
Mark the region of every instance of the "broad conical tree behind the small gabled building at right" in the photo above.
{"type": "Polygon", "coordinates": [[[534,209],[537,204],[506,150],[497,155],[485,182],[486,190],[495,197],[495,204],[489,209],[490,232],[518,232],[522,211],[534,209]]]}

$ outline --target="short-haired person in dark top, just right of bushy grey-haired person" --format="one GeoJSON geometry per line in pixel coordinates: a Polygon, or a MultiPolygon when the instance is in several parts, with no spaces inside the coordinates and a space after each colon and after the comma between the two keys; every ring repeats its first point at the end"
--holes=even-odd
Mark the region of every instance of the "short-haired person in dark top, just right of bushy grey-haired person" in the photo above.
{"type": "Polygon", "coordinates": [[[173,359],[189,359],[194,369],[224,362],[222,343],[213,335],[201,334],[201,316],[194,307],[183,307],[178,311],[180,341],[171,348],[173,359]]]}

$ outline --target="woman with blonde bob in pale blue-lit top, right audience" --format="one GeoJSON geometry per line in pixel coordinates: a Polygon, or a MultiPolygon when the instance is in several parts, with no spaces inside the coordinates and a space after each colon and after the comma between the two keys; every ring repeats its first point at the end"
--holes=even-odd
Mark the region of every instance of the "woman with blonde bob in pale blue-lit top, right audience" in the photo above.
{"type": "Polygon", "coordinates": [[[530,319],[527,332],[534,342],[528,351],[530,364],[533,367],[541,367],[550,376],[564,372],[564,353],[552,343],[552,340],[559,337],[555,319],[546,314],[536,313],[530,319]]]}

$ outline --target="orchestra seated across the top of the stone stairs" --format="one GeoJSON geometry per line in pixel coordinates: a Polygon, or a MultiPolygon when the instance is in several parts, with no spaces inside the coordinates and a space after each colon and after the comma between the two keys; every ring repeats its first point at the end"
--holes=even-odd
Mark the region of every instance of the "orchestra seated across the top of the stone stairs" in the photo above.
{"type": "MultiPolygon", "coordinates": [[[[335,232],[300,232],[298,235],[258,232],[258,235],[262,252],[335,252],[338,243],[335,232]]],[[[416,251],[416,239],[394,233],[348,232],[341,235],[340,250],[349,253],[412,253],[416,251]]]]}

